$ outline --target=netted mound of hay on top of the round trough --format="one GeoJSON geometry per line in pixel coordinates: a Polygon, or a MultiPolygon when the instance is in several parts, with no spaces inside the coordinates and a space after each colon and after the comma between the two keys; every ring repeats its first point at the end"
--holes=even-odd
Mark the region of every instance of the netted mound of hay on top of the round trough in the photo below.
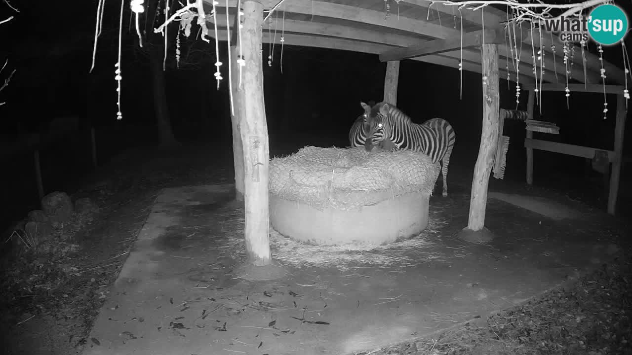
{"type": "Polygon", "coordinates": [[[432,195],[439,163],[404,150],[304,147],[270,160],[269,191],[314,208],[352,210],[404,193],[432,195]]]}

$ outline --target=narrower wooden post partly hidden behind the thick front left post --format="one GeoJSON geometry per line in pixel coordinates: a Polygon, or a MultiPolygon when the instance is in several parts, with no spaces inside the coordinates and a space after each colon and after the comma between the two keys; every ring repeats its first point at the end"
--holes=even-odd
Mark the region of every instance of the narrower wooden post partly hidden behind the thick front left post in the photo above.
{"type": "MultiPolygon", "coordinates": [[[[237,16],[235,16],[237,17],[237,16]]],[[[234,32],[231,33],[234,35],[234,32]]],[[[233,126],[233,165],[235,172],[235,198],[237,200],[243,200],[244,196],[244,166],[243,166],[243,145],[241,142],[240,134],[240,120],[243,119],[243,110],[241,107],[240,98],[243,96],[243,86],[240,87],[240,75],[239,75],[239,47],[237,45],[231,46],[231,65],[232,80],[233,80],[233,114],[231,114],[231,124],[233,126]]],[[[243,75],[243,72],[242,72],[243,75]]],[[[243,76],[242,76],[243,79],[243,76]]]]}

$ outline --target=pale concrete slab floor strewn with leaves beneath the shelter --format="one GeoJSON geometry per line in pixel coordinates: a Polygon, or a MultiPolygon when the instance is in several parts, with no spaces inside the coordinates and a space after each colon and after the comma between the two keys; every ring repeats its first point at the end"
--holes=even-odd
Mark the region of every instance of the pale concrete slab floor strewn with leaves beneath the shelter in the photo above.
{"type": "MultiPolygon", "coordinates": [[[[573,279],[613,251],[594,239],[538,232],[549,222],[535,219],[520,232],[499,233],[491,246],[464,244],[446,231],[437,249],[443,262],[348,273],[289,269],[283,280],[250,282],[231,274],[236,262],[222,252],[223,222],[213,213],[231,200],[231,188],[172,188],[157,197],[83,354],[375,349],[485,320],[573,279]]],[[[487,219],[507,219],[504,211],[520,210],[503,206],[490,208],[487,219]]]]}

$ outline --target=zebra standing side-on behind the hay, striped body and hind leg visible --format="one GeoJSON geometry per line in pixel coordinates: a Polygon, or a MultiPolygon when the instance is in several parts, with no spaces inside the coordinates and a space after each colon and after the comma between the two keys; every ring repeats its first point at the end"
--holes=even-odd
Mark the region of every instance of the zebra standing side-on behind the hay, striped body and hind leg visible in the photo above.
{"type": "Polygon", "coordinates": [[[373,145],[389,139],[398,150],[423,152],[433,163],[440,161],[442,195],[447,196],[447,165],[456,141],[452,126],[442,118],[429,119],[422,124],[413,123],[404,112],[387,102],[379,102],[373,107],[365,105],[365,115],[368,116],[363,127],[368,137],[365,148],[371,150],[373,145]]]}

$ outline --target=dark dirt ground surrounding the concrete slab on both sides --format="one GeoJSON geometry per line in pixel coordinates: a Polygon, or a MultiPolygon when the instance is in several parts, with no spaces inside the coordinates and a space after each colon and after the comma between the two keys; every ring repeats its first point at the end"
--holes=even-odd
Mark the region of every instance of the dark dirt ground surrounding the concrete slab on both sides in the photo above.
{"type": "MultiPolygon", "coordinates": [[[[166,187],[231,183],[232,157],[218,155],[208,147],[183,147],[179,150],[135,150],[121,155],[111,164],[94,172],[91,183],[75,194],[89,196],[101,207],[75,236],[80,252],[67,260],[72,272],[58,277],[55,287],[32,292],[9,289],[4,279],[2,334],[8,354],[75,354],[86,344],[97,311],[109,294],[112,282],[125,263],[131,246],[142,228],[157,193],[166,187]],[[186,159],[183,159],[186,157],[186,159]],[[212,160],[212,161],[211,161],[212,160]],[[10,307],[9,307],[10,306],[10,307]]],[[[454,163],[453,163],[454,164],[454,163]]],[[[454,164],[456,165],[456,164],[454,164]]],[[[469,193],[468,177],[451,166],[451,196],[434,197],[431,205],[441,205],[456,231],[466,221],[469,193]],[[455,222],[456,221],[456,222],[455,222]]],[[[564,226],[559,233],[593,236],[612,244],[612,257],[593,260],[592,272],[561,289],[534,299],[480,322],[459,324],[448,332],[363,354],[623,354],[632,353],[629,345],[629,281],[632,273],[628,258],[629,241],[626,221],[615,220],[594,208],[560,193],[524,184],[492,179],[490,188],[509,194],[527,194],[556,200],[577,210],[593,213],[590,219],[564,226]]],[[[435,194],[435,195],[441,195],[435,194]]],[[[505,202],[490,199],[490,210],[503,218],[487,220],[496,231],[520,233],[525,223],[536,220],[535,212],[506,214],[505,202]],[[525,217],[526,216],[526,217],[525,217]]],[[[547,226],[546,219],[542,223],[547,226]]],[[[563,248],[563,246],[562,246],[563,248]]],[[[511,248],[499,253],[511,255],[511,248]]],[[[13,260],[14,269],[32,260],[13,260]]],[[[4,265],[5,270],[10,269],[4,265]]],[[[31,272],[35,273],[35,270],[31,272]]],[[[6,275],[6,274],[5,274],[6,275]]],[[[23,275],[12,274],[13,278],[23,275]]]]}

